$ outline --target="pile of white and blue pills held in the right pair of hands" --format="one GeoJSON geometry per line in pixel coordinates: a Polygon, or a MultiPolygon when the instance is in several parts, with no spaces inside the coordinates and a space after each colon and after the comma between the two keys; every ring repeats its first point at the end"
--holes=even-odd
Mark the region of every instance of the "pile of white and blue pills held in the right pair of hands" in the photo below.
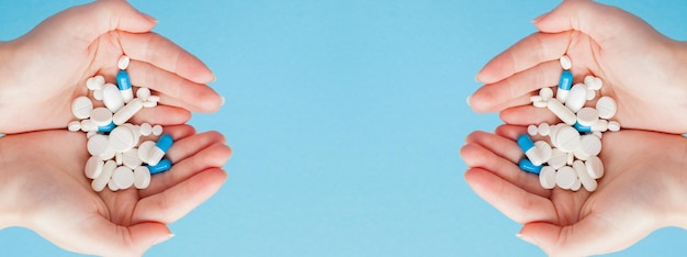
{"type": "Polygon", "coordinates": [[[517,139],[526,156],[518,165],[525,171],[539,175],[544,189],[558,186],[577,191],[584,187],[592,192],[597,188],[596,179],[604,176],[604,164],[598,157],[601,134],[620,130],[620,124],[610,120],[617,104],[612,98],[602,96],[595,107],[586,107],[596,99],[601,79],[586,76],[583,83],[573,85],[570,57],[561,57],[560,63],[563,72],[555,97],[551,88],[542,88],[531,101],[537,108],[548,108],[561,122],[529,125],[529,135],[522,134],[517,139]],[[543,139],[532,142],[530,136],[543,139]]]}

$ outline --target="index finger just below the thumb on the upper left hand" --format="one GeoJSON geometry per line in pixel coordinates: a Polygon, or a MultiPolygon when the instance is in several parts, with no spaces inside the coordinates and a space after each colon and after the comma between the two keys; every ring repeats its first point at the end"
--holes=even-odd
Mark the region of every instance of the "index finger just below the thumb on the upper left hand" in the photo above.
{"type": "Polygon", "coordinates": [[[156,33],[120,33],[120,43],[133,60],[148,63],[195,83],[209,83],[215,79],[198,57],[156,33]]]}

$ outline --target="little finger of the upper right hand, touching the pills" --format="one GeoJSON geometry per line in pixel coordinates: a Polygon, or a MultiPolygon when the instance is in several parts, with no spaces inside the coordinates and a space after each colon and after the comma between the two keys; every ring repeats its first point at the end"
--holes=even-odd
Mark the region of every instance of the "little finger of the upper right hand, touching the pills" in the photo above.
{"type": "Polygon", "coordinates": [[[499,113],[500,120],[513,125],[530,124],[558,124],[559,118],[548,108],[536,108],[532,105],[514,107],[503,110],[499,113]]]}

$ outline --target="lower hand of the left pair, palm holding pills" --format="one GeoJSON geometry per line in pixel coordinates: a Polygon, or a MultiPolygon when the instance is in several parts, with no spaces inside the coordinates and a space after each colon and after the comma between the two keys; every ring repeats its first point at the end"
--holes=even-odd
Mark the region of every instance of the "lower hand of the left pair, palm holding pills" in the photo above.
{"type": "Polygon", "coordinates": [[[0,228],[27,227],[88,255],[140,256],[173,234],[167,227],[212,197],[230,149],[216,132],[168,126],[170,170],[144,190],[94,192],[83,169],[86,135],[44,131],[0,137],[0,228]]]}

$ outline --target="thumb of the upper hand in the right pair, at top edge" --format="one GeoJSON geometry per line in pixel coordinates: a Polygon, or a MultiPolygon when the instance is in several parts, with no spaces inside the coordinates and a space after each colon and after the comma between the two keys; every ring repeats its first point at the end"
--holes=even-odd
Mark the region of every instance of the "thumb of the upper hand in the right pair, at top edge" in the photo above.
{"type": "Polygon", "coordinates": [[[597,42],[616,35],[655,32],[629,12],[589,0],[563,1],[553,11],[534,19],[533,23],[541,32],[581,31],[597,42]]]}

